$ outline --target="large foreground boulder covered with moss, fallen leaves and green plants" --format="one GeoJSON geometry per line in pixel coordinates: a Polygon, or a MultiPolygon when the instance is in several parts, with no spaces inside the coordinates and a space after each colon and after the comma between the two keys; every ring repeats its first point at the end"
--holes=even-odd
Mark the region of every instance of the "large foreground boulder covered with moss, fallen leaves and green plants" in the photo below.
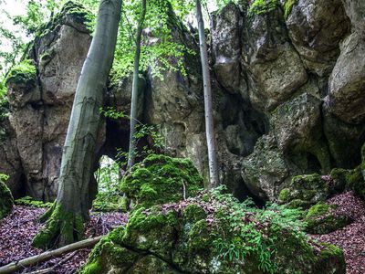
{"type": "Polygon", "coordinates": [[[139,208],[99,242],[81,273],[345,273],[341,250],[319,246],[318,254],[298,212],[259,210],[216,191],[139,208]]]}

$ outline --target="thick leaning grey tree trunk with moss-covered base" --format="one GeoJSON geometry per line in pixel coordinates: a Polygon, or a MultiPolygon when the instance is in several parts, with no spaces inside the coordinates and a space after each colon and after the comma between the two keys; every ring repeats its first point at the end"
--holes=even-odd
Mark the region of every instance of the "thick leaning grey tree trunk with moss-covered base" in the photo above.
{"type": "Polygon", "coordinates": [[[103,91],[117,41],[121,0],[101,0],[95,36],[78,79],[62,153],[57,200],[46,213],[46,227],[33,240],[39,248],[78,241],[89,218],[92,166],[98,140],[103,91]]]}

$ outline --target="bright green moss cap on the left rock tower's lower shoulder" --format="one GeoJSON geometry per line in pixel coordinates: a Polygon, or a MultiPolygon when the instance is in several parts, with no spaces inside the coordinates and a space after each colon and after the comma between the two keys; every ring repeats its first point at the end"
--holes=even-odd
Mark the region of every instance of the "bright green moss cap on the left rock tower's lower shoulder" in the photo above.
{"type": "Polygon", "coordinates": [[[9,83],[14,84],[26,84],[35,85],[36,84],[36,66],[32,60],[24,60],[11,68],[7,78],[5,79],[6,85],[9,83]]]}

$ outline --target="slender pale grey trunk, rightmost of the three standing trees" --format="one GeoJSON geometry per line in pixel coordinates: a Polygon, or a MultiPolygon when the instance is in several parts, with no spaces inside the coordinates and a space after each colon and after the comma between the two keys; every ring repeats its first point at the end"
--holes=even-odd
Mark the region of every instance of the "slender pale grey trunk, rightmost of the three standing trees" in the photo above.
{"type": "Polygon", "coordinates": [[[218,163],[215,153],[214,120],[212,108],[212,88],[209,72],[208,53],[204,34],[204,22],[202,15],[202,5],[200,0],[195,0],[196,20],[198,21],[200,56],[202,59],[203,90],[204,90],[204,111],[205,111],[205,132],[208,147],[209,179],[210,187],[219,184],[218,163]]]}

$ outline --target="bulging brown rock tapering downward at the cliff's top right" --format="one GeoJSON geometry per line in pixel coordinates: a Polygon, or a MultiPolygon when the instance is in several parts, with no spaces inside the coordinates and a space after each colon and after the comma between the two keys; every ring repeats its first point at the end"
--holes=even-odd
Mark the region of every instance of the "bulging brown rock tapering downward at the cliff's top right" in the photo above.
{"type": "Polygon", "coordinates": [[[326,76],[339,57],[339,41],[349,32],[340,0],[294,1],[287,16],[289,37],[306,67],[326,76]]]}

